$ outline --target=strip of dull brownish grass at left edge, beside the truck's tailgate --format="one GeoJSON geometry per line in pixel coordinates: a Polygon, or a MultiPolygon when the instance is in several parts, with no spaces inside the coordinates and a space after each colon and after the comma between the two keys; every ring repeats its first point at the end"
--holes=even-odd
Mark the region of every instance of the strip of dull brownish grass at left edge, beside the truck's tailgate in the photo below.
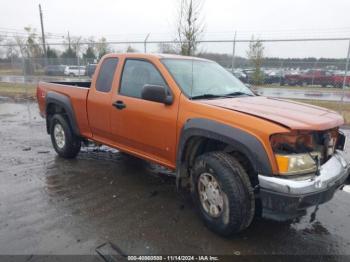
{"type": "Polygon", "coordinates": [[[0,82],[0,96],[35,99],[35,92],[35,84],[12,84],[0,82]]]}

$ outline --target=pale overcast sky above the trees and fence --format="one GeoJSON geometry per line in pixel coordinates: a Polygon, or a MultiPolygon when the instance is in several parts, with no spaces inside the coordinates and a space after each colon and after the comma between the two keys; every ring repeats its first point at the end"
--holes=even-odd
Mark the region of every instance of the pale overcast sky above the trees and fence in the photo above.
{"type": "MultiPolygon", "coordinates": [[[[0,31],[40,29],[38,4],[44,12],[45,31],[55,36],[105,36],[110,41],[174,38],[179,0],[0,0],[0,31]]],[[[204,39],[350,37],[349,0],[205,0],[204,39]]],[[[16,31],[17,32],[17,31],[16,31]]],[[[18,31],[19,32],[19,31],[18,31]]],[[[40,31],[38,31],[40,32],[40,31]]],[[[61,41],[58,38],[48,42],[61,41]]],[[[348,43],[265,44],[266,55],[282,57],[345,57],[348,43]]],[[[123,49],[123,46],[118,47],[123,49]]],[[[136,46],[142,50],[142,46],[136,46]]],[[[237,54],[245,55],[245,44],[237,54]]],[[[151,48],[152,49],[152,48],[151,48]]],[[[201,45],[201,50],[231,52],[229,44],[201,45]]]]}

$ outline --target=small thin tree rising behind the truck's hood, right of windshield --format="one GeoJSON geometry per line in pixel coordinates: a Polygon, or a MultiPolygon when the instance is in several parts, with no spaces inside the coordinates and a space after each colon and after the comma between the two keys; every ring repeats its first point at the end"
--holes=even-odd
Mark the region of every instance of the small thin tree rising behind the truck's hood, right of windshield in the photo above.
{"type": "Polygon", "coordinates": [[[254,67],[253,83],[258,85],[264,81],[264,74],[261,70],[261,66],[264,60],[264,46],[263,43],[257,39],[254,40],[254,36],[249,43],[249,49],[247,51],[248,59],[251,65],[254,67]]]}

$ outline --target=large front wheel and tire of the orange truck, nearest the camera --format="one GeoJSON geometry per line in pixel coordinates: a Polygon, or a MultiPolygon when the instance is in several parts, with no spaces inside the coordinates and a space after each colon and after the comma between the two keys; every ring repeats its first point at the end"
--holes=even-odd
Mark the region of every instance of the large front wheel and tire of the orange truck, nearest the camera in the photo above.
{"type": "Polygon", "coordinates": [[[222,236],[229,236],[251,224],[255,215],[254,191],[248,174],[234,157],[223,152],[209,152],[197,157],[192,169],[192,183],[192,197],[209,229],[222,236]],[[211,181],[212,186],[207,183],[203,187],[206,179],[211,181]],[[210,191],[212,188],[216,188],[216,193],[210,191]],[[207,196],[205,201],[204,191],[207,196]],[[216,203],[222,204],[222,208],[219,208],[220,204],[212,208],[213,203],[210,201],[213,201],[213,196],[214,200],[215,197],[219,199],[216,203]],[[219,196],[222,196],[222,201],[219,196]]]}

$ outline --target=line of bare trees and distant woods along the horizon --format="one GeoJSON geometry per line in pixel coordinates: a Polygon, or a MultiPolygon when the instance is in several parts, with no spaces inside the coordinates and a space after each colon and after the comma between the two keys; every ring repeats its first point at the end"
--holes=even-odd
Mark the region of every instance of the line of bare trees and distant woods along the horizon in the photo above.
{"type": "MultiPolygon", "coordinates": [[[[205,32],[205,19],[202,12],[204,0],[180,0],[177,3],[173,38],[176,43],[161,43],[158,45],[158,52],[199,56],[214,60],[222,66],[230,68],[232,55],[203,52],[198,48],[198,40],[203,37],[205,32]]],[[[6,42],[0,38],[0,42],[5,42],[5,45],[8,44],[5,50],[2,50],[3,54],[0,52],[0,61],[22,58],[26,61],[26,68],[33,71],[36,66],[43,66],[45,61],[49,64],[77,64],[79,59],[95,62],[107,53],[118,52],[118,50],[111,48],[104,37],[95,40],[92,36],[88,38],[70,37],[69,34],[64,38],[63,50],[53,48],[50,45],[46,47],[46,50],[43,50],[42,39],[37,34],[36,29],[25,27],[24,30],[27,33],[26,37],[15,36],[14,39],[6,42]],[[33,62],[37,58],[39,58],[37,60],[39,62],[33,62]]],[[[125,51],[137,52],[138,50],[129,45],[125,51]]],[[[306,69],[322,68],[327,64],[337,64],[336,69],[343,69],[345,59],[264,57],[263,43],[259,39],[254,39],[254,36],[252,36],[252,41],[249,43],[246,57],[235,57],[235,67],[254,69],[253,78],[254,82],[257,83],[263,80],[262,67],[264,66],[306,69]]]]}

